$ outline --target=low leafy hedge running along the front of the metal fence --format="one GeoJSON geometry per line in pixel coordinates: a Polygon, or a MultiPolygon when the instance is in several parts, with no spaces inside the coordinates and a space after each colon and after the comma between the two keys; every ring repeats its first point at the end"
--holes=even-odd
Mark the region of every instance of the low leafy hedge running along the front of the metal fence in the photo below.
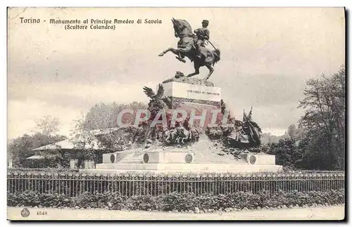
{"type": "Polygon", "coordinates": [[[79,197],[68,197],[58,193],[34,191],[7,194],[10,207],[54,207],[54,208],[101,208],[113,210],[212,212],[228,209],[259,209],[271,207],[306,207],[315,205],[339,205],[345,202],[344,190],[298,192],[279,191],[270,195],[237,192],[220,195],[194,195],[170,193],[167,195],[135,195],[126,197],[118,193],[85,193],[79,197]]]}

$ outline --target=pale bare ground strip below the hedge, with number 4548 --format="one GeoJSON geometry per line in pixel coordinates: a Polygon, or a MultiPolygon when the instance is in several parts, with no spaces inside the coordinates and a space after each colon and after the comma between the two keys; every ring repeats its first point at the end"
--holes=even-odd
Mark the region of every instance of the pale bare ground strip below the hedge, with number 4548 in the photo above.
{"type": "Polygon", "coordinates": [[[21,216],[23,207],[8,207],[8,220],[342,220],[344,206],[246,210],[210,214],[171,212],[112,211],[104,209],[28,208],[30,216],[21,216]],[[46,215],[38,215],[46,212],[46,215]]]}

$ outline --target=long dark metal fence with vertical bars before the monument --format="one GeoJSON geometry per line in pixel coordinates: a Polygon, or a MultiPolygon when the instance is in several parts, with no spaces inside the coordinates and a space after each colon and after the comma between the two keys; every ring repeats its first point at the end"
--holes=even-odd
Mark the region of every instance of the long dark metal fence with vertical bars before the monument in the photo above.
{"type": "Polygon", "coordinates": [[[253,172],[245,174],[97,174],[75,171],[8,170],[7,190],[10,193],[32,190],[39,193],[60,193],[70,197],[82,193],[117,192],[132,195],[194,193],[212,195],[267,190],[337,190],[344,188],[344,171],[253,172]]]}

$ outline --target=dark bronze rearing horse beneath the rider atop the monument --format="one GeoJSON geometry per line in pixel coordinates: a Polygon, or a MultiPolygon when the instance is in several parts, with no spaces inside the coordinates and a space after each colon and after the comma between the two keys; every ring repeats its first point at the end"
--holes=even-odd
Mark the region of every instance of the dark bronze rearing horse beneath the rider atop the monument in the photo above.
{"type": "Polygon", "coordinates": [[[193,77],[194,75],[199,74],[199,68],[201,66],[206,66],[209,70],[208,76],[205,78],[205,81],[209,79],[210,75],[214,72],[213,65],[220,60],[220,50],[216,48],[213,51],[210,51],[205,46],[201,46],[199,51],[204,55],[204,58],[198,58],[196,56],[196,48],[194,46],[194,33],[191,29],[191,25],[186,20],[175,20],[174,18],[171,19],[174,30],[175,30],[175,37],[179,37],[180,41],[177,43],[177,49],[175,48],[168,48],[159,56],[163,56],[168,51],[175,53],[176,58],[183,63],[186,62],[184,57],[189,58],[192,62],[194,62],[194,70],[195,72],[188,74],[187,77],[193,77]]]}

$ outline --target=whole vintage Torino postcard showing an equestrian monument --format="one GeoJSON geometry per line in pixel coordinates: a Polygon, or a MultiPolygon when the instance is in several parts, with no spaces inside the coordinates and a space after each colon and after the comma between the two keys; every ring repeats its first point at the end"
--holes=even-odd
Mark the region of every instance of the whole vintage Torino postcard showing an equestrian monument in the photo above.
{"type": "Polygon", "coordinates": [[[8,8],[8,220],[344,220],[345,20],[8,8]]]}

